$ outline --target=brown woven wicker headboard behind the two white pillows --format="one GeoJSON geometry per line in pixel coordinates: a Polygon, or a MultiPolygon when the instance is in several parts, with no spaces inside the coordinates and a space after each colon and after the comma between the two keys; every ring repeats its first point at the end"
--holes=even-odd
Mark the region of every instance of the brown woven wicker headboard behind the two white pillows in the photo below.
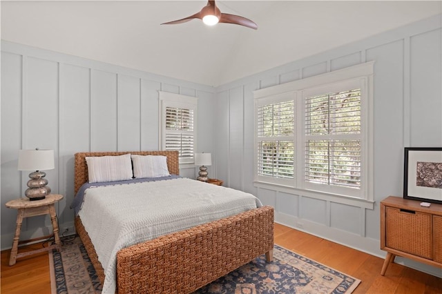
{"type": "Polygon", "coordinates": [[[85,157],[90,156],[115,156],[124,154],[135,155],[164,155],[167,157],[167,167],[169,173],[172,175],[180,175],[180,163],[178,160],[178,151],[125,151],[125,152],[83,152],[75,153],[75,180],[74,180],[74,192],[77,191],[82,184],[88,182],[88,165],[86,164],[85,157]]]}

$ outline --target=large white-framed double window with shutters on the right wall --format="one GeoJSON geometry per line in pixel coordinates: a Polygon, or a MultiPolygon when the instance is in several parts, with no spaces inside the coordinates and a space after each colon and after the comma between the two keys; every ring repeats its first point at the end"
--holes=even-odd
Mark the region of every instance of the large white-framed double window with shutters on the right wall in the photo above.
{"type": "Polygon", "coordinates": [[[256,182],[372,200],[372,70],[255,91],[256,182]]]}

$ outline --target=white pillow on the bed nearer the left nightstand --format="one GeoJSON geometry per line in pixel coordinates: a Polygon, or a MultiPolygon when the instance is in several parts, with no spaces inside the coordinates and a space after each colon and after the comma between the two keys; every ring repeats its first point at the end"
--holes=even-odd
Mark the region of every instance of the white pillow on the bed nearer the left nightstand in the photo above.
{"type": "Polygon", "coordinates": [[[89,183],[132,179],[131,154],[86,157],[89,183]]]}

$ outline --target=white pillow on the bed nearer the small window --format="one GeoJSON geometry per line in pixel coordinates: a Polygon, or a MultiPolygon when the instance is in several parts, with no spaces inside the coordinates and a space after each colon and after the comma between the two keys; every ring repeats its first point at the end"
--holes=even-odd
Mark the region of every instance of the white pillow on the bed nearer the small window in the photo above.
{"type": "Polygon", "coordinates": [[[162,155],[132,155],[133,176],[166,177],[171,175],[167,168],[167,157],[162,155]]]}

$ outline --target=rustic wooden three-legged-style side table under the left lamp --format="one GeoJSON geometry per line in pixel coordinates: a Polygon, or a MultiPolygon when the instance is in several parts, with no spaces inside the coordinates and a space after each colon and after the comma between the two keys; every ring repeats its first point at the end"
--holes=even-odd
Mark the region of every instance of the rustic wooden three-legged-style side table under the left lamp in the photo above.
{"type": "Polygon", "coordinates": [[[58,223],[57,214],[55,213],[54,204],[63,199],[63,195],[50,194],[45,199],[30,201],[28,198],[14,199],[6,202],[6,207],[17,209],[17,223],[15,226],[15,236],[12,242],[11,255],[9,259],[9,265],[13,266],[19,257],[24,257],[44,251],[50,251],[52,248],[56,248],[61,251],[61,242],[58,235],[58,223]],[[52,221],[52,232],[54,233],[55,245],[50,245],[46,248],[41,248],[35,251],[28,251],[25,253],[17,253],[19,248],[19,237],[21,231],[21,223],[25,217],[35,217],[37,215],[50,215],[52,221]]]}

